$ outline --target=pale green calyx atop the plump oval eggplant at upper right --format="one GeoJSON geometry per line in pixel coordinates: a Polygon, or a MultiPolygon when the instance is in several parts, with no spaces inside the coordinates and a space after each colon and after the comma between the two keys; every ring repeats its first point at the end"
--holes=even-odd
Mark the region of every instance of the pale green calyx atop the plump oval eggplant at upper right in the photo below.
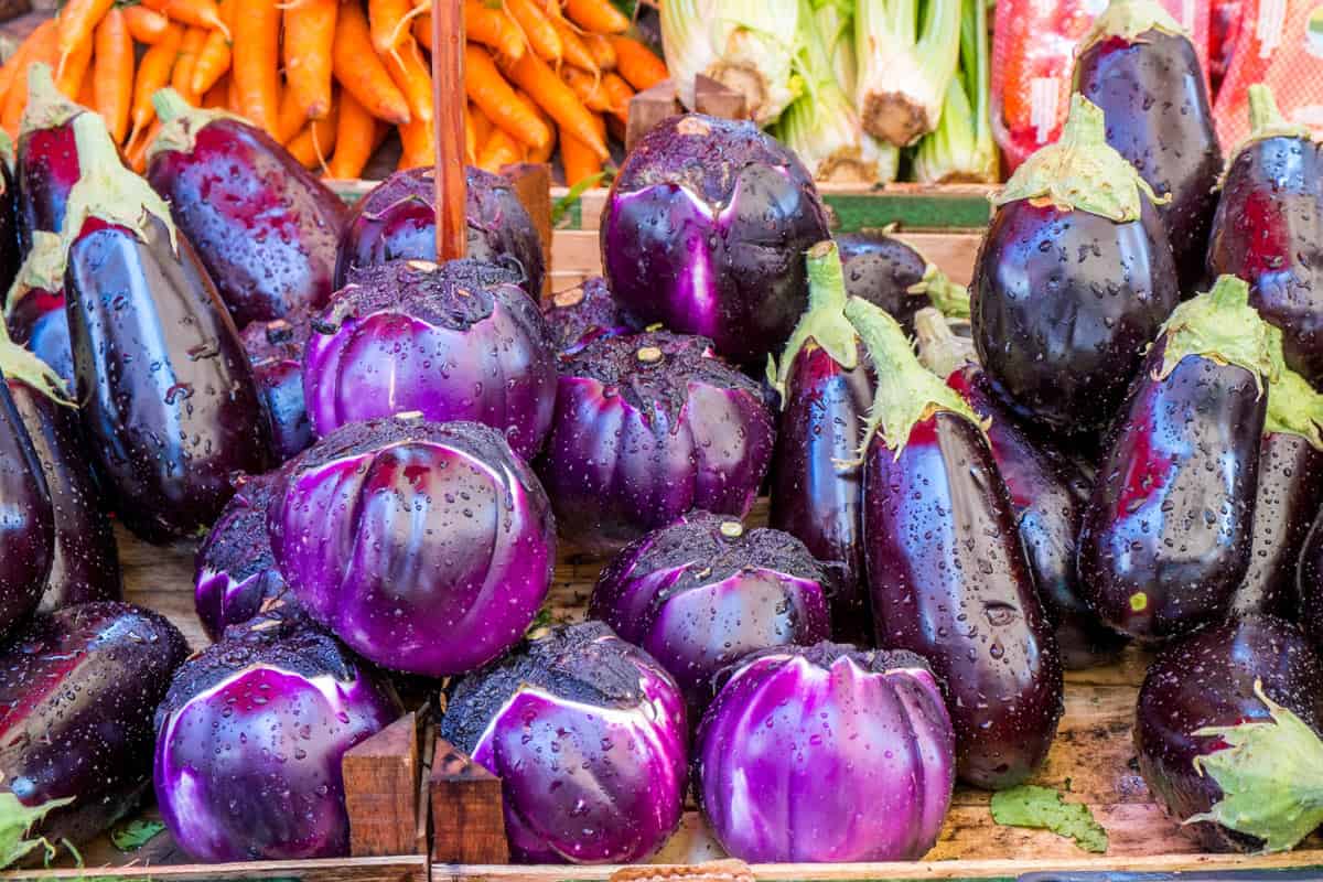
{"type": "Polygon", "coordinates": [[[1127,223],[1139,220],[1144,197],[1154,205],[1171,200],[1159,198],[1135,167],[1107,144],[1102,111],[1076,93],[1057,143],[1027,159],[991,198],[996,206],[1031,200],[1060,212],[1089,212],[1127,223]]]}

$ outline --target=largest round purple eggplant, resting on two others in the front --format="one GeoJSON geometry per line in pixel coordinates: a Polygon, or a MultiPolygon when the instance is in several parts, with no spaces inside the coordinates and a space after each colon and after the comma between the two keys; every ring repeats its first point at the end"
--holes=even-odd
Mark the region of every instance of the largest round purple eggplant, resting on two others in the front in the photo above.
{"type": "Polygon", "coordinates": [[[351,423],[282,469],[277,567],[316,621],[384,668],[492,661],[552,583],[556,522],[533,472],[479,423],[351,423]]]}

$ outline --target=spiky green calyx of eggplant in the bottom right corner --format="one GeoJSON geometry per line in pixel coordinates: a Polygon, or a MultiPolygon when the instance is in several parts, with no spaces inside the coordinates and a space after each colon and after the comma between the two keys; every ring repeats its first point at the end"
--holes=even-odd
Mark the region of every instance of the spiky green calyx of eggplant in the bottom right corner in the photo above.
{"type": "Polygon", "coordinates": [[[1263,841],[1265,852],[1287,852],[1323,824],[1323,742],[1299,717],[1266,694],[1254,694],[1270,721],[1200,729],[1226,747],[1195,758],[1195,771],[1212,778],[1222,797],[1185,820],[1207,821],[1263,841]]]}

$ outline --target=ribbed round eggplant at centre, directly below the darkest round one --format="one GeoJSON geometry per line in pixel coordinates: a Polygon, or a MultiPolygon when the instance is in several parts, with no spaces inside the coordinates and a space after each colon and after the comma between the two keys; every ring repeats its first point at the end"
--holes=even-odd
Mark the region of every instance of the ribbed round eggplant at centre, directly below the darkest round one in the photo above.
{"type": "Polygon", "coordinates": [[[538,473],[566,540],[614,551],[691,509],[741,518],[771,464],[762,387],[708,340],[597,340],[561,361],[538,473]]]}

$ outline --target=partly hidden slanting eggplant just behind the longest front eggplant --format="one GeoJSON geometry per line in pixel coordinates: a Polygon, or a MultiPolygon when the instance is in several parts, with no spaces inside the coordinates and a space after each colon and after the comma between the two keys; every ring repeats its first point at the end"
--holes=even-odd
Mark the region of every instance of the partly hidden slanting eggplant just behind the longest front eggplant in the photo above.
{"type": "Polygon", "coordinates": [[[1068,669],[1107,664],[1126,639],[1103,625],[1085,603],[1076,571],[1076,538],[1089,483],[1056,446],[1025,424],[992,389],[987,374],[960,357],[962,344],[935,309],[914,316],[919,358],[987,421],[988,447],[1011,495],[1020,542],[1043,610],[1056,628],[1068,669]]]}

